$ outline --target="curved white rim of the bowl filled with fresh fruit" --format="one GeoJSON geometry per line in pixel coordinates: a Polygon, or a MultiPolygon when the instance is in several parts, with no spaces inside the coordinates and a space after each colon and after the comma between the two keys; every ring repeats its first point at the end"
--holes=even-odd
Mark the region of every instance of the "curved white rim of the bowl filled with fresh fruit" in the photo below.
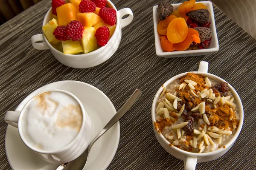
{"type": "MultiPolygon", "coordinates": [[[[107,1],[107,4],[109,4],[112,8],[114,8],[115,10],[116,10],[116,28],[119,26],[119,24],[120,24],[120,18],[119,18],[119,16],[118,16],[118,11],[117,11],[117,9],[116,9],[116,6],[114,6],[114,4],[110,1],[110,0],[106,0],[107,1]]],[[[42,26],[44,26],[45,24],[47,24],[48,22],[47,22],[47,16],[49,15],[49,14],[51,14],[51,12],[52,12],[52,7],[51,8],[49,8],[49,10],[47,11],[47,13],[45,14],[45,16],[44,16],[44,21],[43,21],[43,25],[42,26]]],[[[115,34],[116,33],[116,28],[115,28],[115,31],[113,32],[113,34],[115,34]]],[[[98,49],[96,49],[96,50],[94,50],[94,51],[91,51],[90,53],[87,53],[87,54],[64,54],[64,53],[62,53],[61,51],[58,51],[57,49],[55,49],[50,43],[49,43],[49,41],[47,40],[47,38],[45,37],[45,35],[44,35],[44,32],[42,33],[43,34],[43,38],[44,38],[44,41],[47,43],[47,45],[49,46],[49,48],[52,50],[52,51],[54,51],[54,52],[56,52],[56,53],[58,53],[58,54],[63,54],[63,55],[65,55],[65,56],[67,56],[67,57],[71,57],[71,58],[83,58],[83,57],[87,57],[89,54],[90,55],[93,55],[93,54],[96,54],[98,51],[99,51],[99,49],[101,49],[102,50],[102,48],[106,48],[106,46],[108,45],[105,45],[105,46],[103,46],[103,47],[100,47],[100,48],[98,48],[98,49]]],[[[111,40],[113,40],[113,35],[112,35],[112,37],[108,40],[108,41],[111,41],[111,40]]]]}

